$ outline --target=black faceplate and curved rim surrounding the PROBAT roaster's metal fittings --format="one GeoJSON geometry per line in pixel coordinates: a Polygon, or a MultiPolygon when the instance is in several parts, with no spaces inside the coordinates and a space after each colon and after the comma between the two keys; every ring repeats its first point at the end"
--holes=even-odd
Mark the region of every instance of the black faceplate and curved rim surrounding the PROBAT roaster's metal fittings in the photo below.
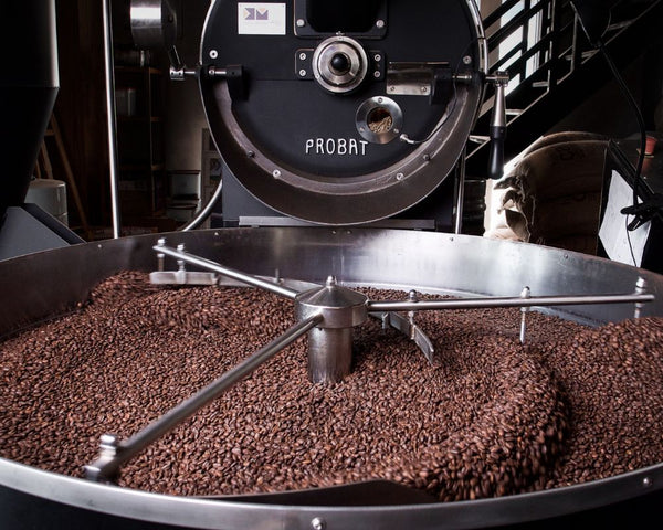
{"type": "Polygon", "coordinates": [[[453,170],[483,93],[482,31],[467,1],[421,0],[413,9],[385,0],[383,34],[355,35],[352,44],[367,53],[366,78],[340,94],[311,74],[314,51],[328,34],[303,36],[293,0],[266,6],[272,4],[280,13],[277,34],[270,34],[273,29],[248,34],[240,19],[253,17],[257,7],[244,12],[246,3],[217,1],[208,15],[201,91],[231,172],[273,210],[320,224],[382,220],[428,197],[453,170]],[[456,83],[455,91],[440,91],[433,103],[427,91],[438,84],[415,85],[423,88],[417,95],[389,89],[386,70],[392,62],[443,63],[448,72],[473,77],[456,83]],[[230,82],[206,74],[230,65],[242,67],[245,97],[230,82]],[[390,142],[367,141],[358,130],[358,110],[373,97],[391,98],[402,112],[402,127],[394,127],[390,142]],[[417,141],[400,141],[401,134],[417,141]]]}

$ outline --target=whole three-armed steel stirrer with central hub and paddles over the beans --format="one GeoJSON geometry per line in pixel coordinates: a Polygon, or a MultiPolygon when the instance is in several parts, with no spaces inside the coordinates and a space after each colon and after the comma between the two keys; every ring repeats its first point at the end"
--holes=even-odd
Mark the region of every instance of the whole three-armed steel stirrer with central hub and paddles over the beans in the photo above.
{"type": "MultiPolygon", "coordinates": [[[[530,296],[529,289],[523,289],[517,297],[487,298],[444,298],[420,300],[415,292],[410,292],[407,300],[388,301],[370,300],[366,295],[343,287],[334,276],[329,276],[323,286],[298,292],[278,283],[273,283],[240,271],[220,265],[213,261],[189,254],[183,245],[177,248],[166,246],[164,240],[154,247],[157,252],[159,268],[162,268],[164,256],[175,257],[179,271],[152,273],[157,283],[164,283],[164,274],[171,274],[173,284],[186,284],[197,276],[187,276],[183,264],[211,271],[229,276],[243,284],[262,288],[294,301],[297,322],[282,336],[254,352],[235,368],[225,372],[208,386],[193,394],[188,400],[171,409],[143,431],[126,441],[118,441],[114,435],[105,434],[101,438],[99,456],[95,462],[85,466],[88,479],[102,483],[114,481],[120,467],[144,451],[156,439],[170,432],[181,422],[193,415],[198,410],[209,404],[233,384],[242,380],[270,360],[284,348],[308,333],[308,377],[314,383],[335,383],[350,373],[352,362],[352,328],[364,324],[369,316],[379,318],[382,326],[392,326],[407,335],[422,350],[429,362],[433,362],[434,347],[425,333],[414,322],[414,316],[420,310],[442,309],[476,309],[515,307],[522,310],[520,341],[525,341],[526,314],[533,306],[562,306],[586,304],[634,304],[634,318],[639,318],[643,304],[654,300],[652,294],[645,292],[645,283],[638,280],[632,294],[588,295],[588,296],[530,296]],[[407,311],[407,317],[397,311],[407,311]]],[[[211,284],[208,277],[207,284],[211,284]]],[[[190,284],[200,285],[206,282],[192,280],[190,284]]]]}

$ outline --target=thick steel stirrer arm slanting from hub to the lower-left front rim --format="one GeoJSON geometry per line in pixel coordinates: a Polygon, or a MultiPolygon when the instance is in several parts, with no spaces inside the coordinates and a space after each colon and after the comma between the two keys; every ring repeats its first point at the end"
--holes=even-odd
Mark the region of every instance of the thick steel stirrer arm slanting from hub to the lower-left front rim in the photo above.
{"type": "Polygon", "coordinates": [[[127,441],[120,442],[119,444],[114,444],[114,438],[112,436],[103,436],[102,456],[93,464],[85,466],[86,477],[97,481],[112,479],[116,476],[122,465],[127,463],[156,439],[170,432],[200,409],[215,400],[219,395],[242,380],[244,377],[254,372],[261,364],[269,361],[281,350],[293,343],[304,333],[318,325],[322,320],[323,317],[320,315],[313,315],[312,317],[292,326],[281,337],[274,339],[267,346],[257,350],[240,364],[225,372],[219,379],[208,384],[188,400],[168,411],[161,417],[150,423],[147,427],[139,433],[136,433],[127,441]],[[104,444],[107,445],[104,446],[104,444]],[[105,451],[108,453],[104,454],[105,451]]]}

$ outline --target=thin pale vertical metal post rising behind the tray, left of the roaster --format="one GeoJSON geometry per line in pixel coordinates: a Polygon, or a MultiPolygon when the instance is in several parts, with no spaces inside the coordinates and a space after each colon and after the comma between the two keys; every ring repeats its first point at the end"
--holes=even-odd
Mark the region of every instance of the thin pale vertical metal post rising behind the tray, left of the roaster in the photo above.
{"type": "Polygon", "coordinates": [[[106,73],[106,112],[108,114],[108,163],[110,169],[110,208],[113,215],[113,237],[120,235],[119,192],[117,182],[117,116],[115,113],[115,71],[113,59],[113,19],[110,0],[102,0],[104,6],[104,56],[106,73]]]}

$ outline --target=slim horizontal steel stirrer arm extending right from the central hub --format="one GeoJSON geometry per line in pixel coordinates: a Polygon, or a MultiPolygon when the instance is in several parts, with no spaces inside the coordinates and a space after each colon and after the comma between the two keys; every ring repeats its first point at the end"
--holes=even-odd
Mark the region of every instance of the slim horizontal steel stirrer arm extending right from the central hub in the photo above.
{"type": "Polygon", "coordinates": [[[422,311],[434,309],[484,309],[493,307],[533,307],[533,306],[580,306],[589,304],[644,304],[654,301],[654,295],[579,295],[579,296],[538,296],[532,298],[453,298],[445,300],[369,301],[369,311],[422,311]]]}

